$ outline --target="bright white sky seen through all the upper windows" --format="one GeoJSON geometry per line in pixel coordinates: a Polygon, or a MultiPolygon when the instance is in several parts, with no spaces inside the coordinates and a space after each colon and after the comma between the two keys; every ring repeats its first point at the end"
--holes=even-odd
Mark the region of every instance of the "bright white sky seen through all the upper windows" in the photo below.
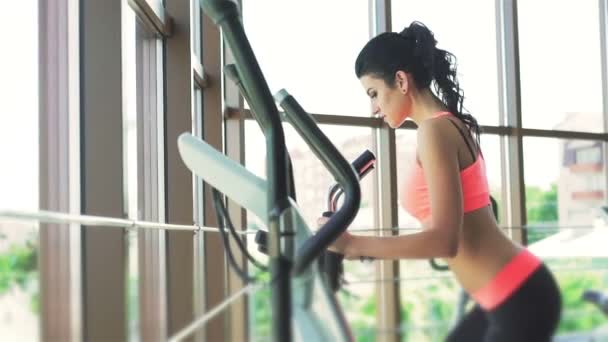
{"type": "MultiPolygon", "coordinates": [[[[11,10],[0,13],[4,32],[18,28],[18,34],[5,35],[4,45],[10,48],[0,55],[0,208],[36,208],[38,202],[37,3],[11,2],[11,10]]],[[[567,112],[589,112],[597,121],[589,120],[581,129],[600,129],[597,2],[518,5],[524,124],[550,129],[567,112]]],[[[368,115],[368,100],[353,71],[369,38],[367,1],[245,0],[243,10],[273,93],[286,88],[310,112],[368,115]]],[[[423,21],[439,46],[456,54],[465,104],[482,124],[491,125],[497,123],[498,111],[494,11],[494,2],[487,0],[393,1],[392,11],[393,30],[423,21]],[[476,14],[467,15],[472,12],[476,14]]],[[[339,130],[334,132],[333,138],[341,139],[339,130]]],[[[497,140],[491,140],[495,142],[484,148],[498,151],[497,140]]],[[[528,139],[524,148],[528,184],[546,185],[557,178],[555,140],[528,139]]],[[[490,166],[490,173],[499,175],[500,165],[490,166]]]]}

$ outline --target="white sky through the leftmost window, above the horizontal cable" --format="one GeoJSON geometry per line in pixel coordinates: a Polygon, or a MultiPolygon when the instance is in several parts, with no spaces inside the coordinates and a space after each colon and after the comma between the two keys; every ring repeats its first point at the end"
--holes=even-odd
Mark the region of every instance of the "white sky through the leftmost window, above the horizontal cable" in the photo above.
{"type": "Polygon", "coordinates": [[[38,203],[38,1],[3,4],[0,208],[31,209],[38,203]]]}

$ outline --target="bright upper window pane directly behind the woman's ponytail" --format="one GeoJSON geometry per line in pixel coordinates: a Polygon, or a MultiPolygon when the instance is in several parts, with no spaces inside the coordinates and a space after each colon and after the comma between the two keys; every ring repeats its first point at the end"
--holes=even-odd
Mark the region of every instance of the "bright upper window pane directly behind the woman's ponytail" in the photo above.
{"type": "Polygon", "coordinates": [[[421,21],[435,34],[437,47],[456,56],[458,79],[465,94],[464,107],[483,125],[498,125],[494,3],[473,0],[393,1],[391,12],[393,31],[400,32],[412,21],[421,21]],[[476,14],[463,20],[455,13],[476,14]]]}

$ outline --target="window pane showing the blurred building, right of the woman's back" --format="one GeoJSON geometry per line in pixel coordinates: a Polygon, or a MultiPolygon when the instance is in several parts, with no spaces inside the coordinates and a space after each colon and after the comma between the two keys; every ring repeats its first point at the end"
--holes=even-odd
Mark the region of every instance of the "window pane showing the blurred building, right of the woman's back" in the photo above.
{"type": "Polygon", "coordinates": [[[528,243],[541,255],[608,257],[597,235],[606,219],[603,149],[599,141],[524,139],[528,243]]]}

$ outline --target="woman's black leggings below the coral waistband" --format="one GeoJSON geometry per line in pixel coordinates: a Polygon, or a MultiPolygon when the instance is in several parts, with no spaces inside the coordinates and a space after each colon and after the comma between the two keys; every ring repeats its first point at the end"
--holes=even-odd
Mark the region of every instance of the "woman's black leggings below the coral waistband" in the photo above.
{"type": "Polygon", "coordinates": [[[551,341],[561,313],[561,296],[551,272],[543,264],[497,308],[476,305],[446,341],[551,341]]]}

